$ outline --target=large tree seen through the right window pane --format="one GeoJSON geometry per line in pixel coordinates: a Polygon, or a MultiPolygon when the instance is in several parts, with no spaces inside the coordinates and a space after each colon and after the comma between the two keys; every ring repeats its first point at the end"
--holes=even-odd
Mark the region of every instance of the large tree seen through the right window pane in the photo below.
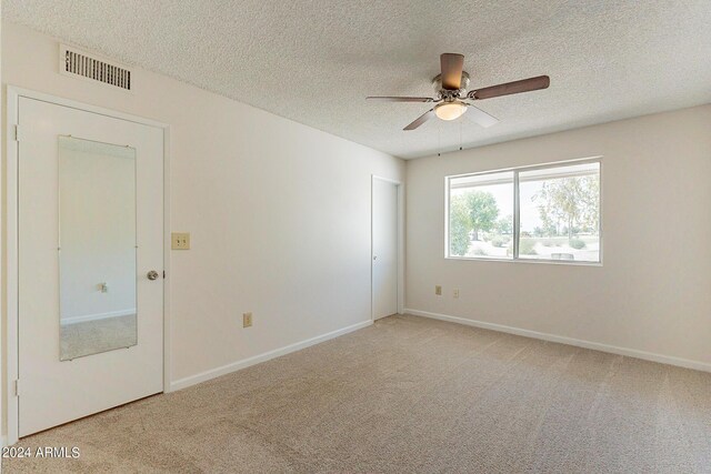
{"type": "MultiPolygon", "coordinates": [[[[568,239],[577,229],[599,228],[600,181],[598,177],[574,177],[543,181],[533,196],[540,201],[539,212],[545,228],[564,225],[568,239]]],[[[559,232],[558,232],[559,233],[559,232]]]]}

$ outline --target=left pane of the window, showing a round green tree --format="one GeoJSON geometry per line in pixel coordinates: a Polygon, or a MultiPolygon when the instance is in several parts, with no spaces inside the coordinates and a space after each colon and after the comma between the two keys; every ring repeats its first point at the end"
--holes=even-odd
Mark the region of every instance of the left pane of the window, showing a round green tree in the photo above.
{"type": "Polygon", "coordinates": [[[449,180],[449,255],[513,258],[513,172],[449,180]]]}

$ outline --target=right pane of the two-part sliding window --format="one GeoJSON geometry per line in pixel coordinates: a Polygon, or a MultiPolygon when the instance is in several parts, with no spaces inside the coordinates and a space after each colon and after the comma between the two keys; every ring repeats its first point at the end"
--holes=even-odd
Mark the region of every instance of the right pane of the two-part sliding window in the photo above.
{"type": "Polygon", "coordinates": [[[600,261],[600,163],[519,173],[520,259],[600,261]]]}

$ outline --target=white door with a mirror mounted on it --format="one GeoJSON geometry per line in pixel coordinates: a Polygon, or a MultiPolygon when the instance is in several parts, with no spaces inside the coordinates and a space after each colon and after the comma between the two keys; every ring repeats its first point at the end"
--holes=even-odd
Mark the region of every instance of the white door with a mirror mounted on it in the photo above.
{"type": "Polygon", "coordinates": [[[163,131],[20,98],[18,138],[24,436],[163,390],[163,131]]]}

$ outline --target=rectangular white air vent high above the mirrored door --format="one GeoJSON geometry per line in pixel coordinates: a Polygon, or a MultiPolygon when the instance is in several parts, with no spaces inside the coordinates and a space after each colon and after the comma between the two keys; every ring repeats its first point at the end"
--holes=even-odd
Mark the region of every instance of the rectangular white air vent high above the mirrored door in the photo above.
{"type": "Polygon", "coordinates": [[[103,82],[127,91],[131,90],[131,71],[129,69],[63,44],[60,44],[59,52],[59,70],[62,74],[103,82]]]}

